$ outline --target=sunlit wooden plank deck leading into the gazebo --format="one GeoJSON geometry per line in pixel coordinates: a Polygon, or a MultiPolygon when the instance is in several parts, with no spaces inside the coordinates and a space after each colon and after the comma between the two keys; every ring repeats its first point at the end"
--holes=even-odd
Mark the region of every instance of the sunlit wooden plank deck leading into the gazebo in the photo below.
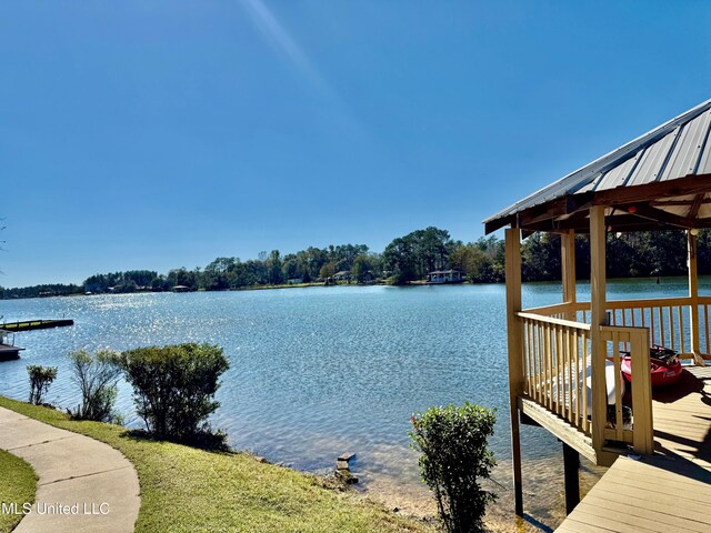
{"type": "Polygon", "coordinates": [[[711,366],[654,391],[654,455],[619,457],[561,533],[711,531],[711,366]]]}

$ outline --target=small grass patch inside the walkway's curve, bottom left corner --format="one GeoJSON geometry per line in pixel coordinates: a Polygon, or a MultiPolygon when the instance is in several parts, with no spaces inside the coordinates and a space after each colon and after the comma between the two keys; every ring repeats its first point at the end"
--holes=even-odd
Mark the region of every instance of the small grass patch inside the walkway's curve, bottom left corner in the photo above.
{"type": "MultiPolygon", "coordinates": [[[[0,503],[17,503],[18,512],[22,504],[34,502],[37,476],[32,466],[20,457],[0,450],[0,503]]],[[[20,522],[21,514],[13,514],[9,509],[0,509],[0,533],[12,531],[20,522]]]]}

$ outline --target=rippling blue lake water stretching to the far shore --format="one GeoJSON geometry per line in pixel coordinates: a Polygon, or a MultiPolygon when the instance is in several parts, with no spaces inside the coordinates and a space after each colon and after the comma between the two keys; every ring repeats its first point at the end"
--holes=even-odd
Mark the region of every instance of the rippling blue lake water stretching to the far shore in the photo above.
{"type": "MultiPolygon", "coordinates": [[[[709,292],[711,280],[702,280],[709,292]]],[[[611,282],[609,299],[687,293],[685,279],[611,282]]],[[[579,285],[581,299],[589,286],[579,285]]],[[[523,305],[560,301],[558,283],[523,285],[523,305]]],[[[508,497],[509,435],[504,286],[336,286],[187,294],[117,294],[0,301],[4,321],[71,318],[72,328],[18,334],[22,359],[0,363],[0,394],[26,400],[28,364],[59,368],[48,400],[74,405],[67,354],[209,342],[223,346],[230,370],[213,418],[230,444],[272,462],[319,472],[357,453],[361,486],[388,503],[429,506],[409,449],[410,416],[465,400],[497,408],[491,446],[508,497]]],[[[129,424],[131,391],[119,411],[129,424]]],[[[527,507],[555,525],[562,505],[560,443],[523,429],[527,507]],[[553,511],[551,511],[553,509],[553,511]],[[552,513],[552,514],[551,514],[552,513]]],[[[592,473],[594,476],[594,472],[592,473]]]]}

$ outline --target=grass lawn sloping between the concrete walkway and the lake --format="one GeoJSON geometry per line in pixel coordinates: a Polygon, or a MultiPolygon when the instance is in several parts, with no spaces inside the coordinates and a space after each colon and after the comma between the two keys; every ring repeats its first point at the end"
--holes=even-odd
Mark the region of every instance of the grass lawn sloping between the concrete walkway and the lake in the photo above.
{"type": "MultiPolygon", "coordinates": [[[[249,454],[136,439],[120,425],[71,421],[60,411],[3,396],[0,406],[120,450],[136,465],[141,485],[137,532],[433,531],[353,492],[328,489],[316,476],[263,464],[249,454]]],[[[14,475],[2,476],[8,479],[14,485],[14,475]]],[[[31,486],[32,495],[31,469],[30,479],[31,484],[23,481],[20,486],[31,486]]],[[[2,483],[0,495],[4,494],[2,483]]]]}

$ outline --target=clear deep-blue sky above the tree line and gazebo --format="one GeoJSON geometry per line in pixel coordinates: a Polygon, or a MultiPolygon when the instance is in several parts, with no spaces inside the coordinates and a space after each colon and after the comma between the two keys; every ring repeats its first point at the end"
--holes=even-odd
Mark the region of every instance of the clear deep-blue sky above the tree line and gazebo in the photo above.
{"type": "Polygon", "coordinates": [[[6,1],[0,285],[481,220],[711,98],[704,1],[6,1]]]}

